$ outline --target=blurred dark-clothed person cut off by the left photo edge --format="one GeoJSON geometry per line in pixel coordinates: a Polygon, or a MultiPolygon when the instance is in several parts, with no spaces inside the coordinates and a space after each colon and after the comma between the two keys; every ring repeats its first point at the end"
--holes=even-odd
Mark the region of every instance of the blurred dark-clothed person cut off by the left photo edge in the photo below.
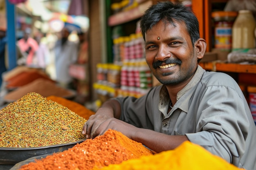
{"type": "Polygon", "coordinates": [[[2,86],[2,73],[6,71],[6,67],[5,67],[6,43],[7,43],[6,31],[0,30],[0,86],[2,86]]]}

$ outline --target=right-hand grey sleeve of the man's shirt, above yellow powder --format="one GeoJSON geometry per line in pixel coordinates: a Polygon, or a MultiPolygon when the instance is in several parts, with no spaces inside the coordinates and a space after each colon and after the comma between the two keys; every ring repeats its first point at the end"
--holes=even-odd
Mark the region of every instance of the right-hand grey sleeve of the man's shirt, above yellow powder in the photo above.
{"type": "Polygon", "coordinates": [[[209,86],[202,94],[197,132],[186,136],[189,141],[232,162],[245,152],[249,131],[245,99],[227,86],[209,86]]]}

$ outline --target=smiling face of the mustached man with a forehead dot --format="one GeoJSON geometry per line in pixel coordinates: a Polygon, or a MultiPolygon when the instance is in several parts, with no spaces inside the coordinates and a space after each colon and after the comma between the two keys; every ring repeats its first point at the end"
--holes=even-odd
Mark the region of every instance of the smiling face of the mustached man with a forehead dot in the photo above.
{"type": "Polygon", "coordinates": [[[159,82],[189,82],[198,66],[197,55],[186,26],[159,21],[145,34],[146,62],[159,82]]]}

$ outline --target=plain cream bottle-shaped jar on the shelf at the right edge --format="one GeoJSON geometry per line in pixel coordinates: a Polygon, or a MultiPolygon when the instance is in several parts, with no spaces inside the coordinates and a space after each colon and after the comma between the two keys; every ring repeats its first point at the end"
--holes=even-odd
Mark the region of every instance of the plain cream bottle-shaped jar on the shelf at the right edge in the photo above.
{"type": "Polygon", "coordinates": [[[240,10],[232,27],[232,50],[255,48],[255,19],[252,11],[240,10]]]}

